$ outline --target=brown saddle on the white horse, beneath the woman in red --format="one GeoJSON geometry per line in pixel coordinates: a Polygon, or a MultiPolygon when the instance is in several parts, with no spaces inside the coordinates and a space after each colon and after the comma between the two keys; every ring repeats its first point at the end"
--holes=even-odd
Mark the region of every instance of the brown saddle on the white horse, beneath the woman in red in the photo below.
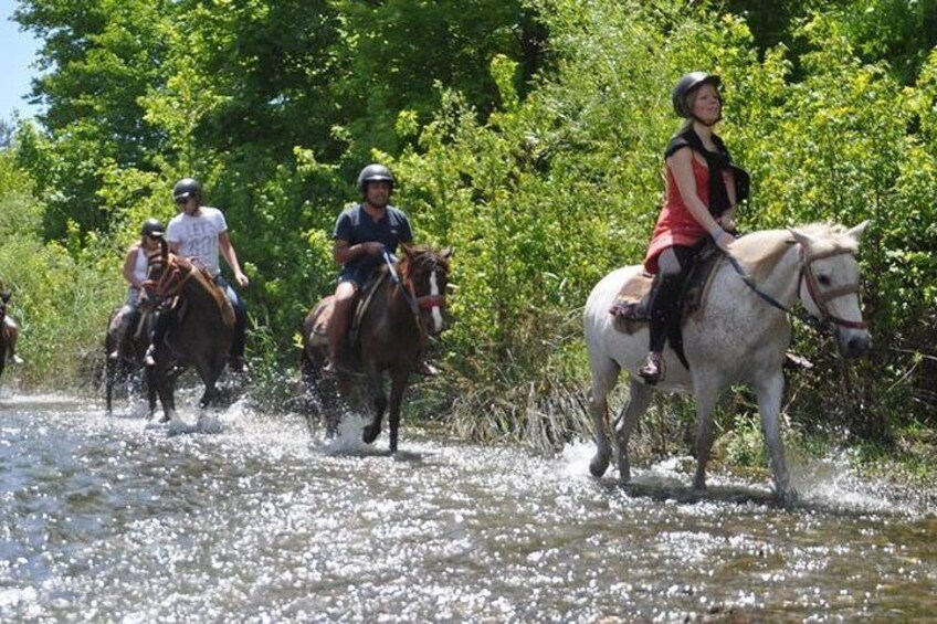
{"type": "MultiPolygon", "coordinates": [[[[699,318],[703,315],[713,276],[723,257],[723,254],[718,253],[718,247],[708,241],[694,256],[693,265],[683,284],[681,314],[677,315],[678,325],[667,328],[668,336],[673,332],[678,334],[680,328],[689,318],[699,318]]],[[[653,282],[651,274],[641,272],[624,283],[609,309],[609,313],[614,316],[613,326],[617,330],[631,335],[646,327],[650,321],[650,295],[653,282]]]]}

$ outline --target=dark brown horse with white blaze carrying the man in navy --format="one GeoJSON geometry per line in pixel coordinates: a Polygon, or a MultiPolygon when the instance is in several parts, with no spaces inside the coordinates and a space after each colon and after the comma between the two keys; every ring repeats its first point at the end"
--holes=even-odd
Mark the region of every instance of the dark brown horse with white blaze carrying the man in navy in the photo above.
{"type": "MultiPolygon", "coordinates": [[[[390,377],[390,452],[397,452],[400,404],[412,373],[420,361],[429,336],[443,330],[442,309],[449,279],[450,250],[434,252],[427,247],[403,248],[403,256],[386,266],[371,292],[367,289],[364,310],[356,321],[357,339],[351,347],[351,368],[357,376],[339,373],[343,395],[355,388],[355,377],[366,379],[367,395],[372,401],[373,417],[365,426],[361,438],[370,444],[381,431],[388,409],[383,377],[390,377]]],[[[303,377],[309,389],[317,389],[328,357],[326,327],[331,316],[333,297],[326,297],[306,316],[303,324],[303,377]]]]}

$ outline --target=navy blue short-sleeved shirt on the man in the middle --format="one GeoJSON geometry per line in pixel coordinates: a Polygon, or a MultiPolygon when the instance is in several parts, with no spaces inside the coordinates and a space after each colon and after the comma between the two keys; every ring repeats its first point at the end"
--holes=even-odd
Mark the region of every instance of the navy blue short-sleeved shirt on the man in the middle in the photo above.
{"type": "MultiPolygon", "coordinates": [[[[383,216],[375,221],[364,205],[355,204],[338,215],[331,237],[336,241],[346,241],[349,245],[382,243],[387,251],[394,254],[400,243],[409,243],[413,240],[413,232],[410,229],[410,220],[403,211],[392,205],[388,205],[383,216]]],[[[359,285],[364,284],[367,276],[382,263],[383,257],[379,255],[358,256],[341,267],[339,279],[347,277],[355,279],[359,285]]]]}

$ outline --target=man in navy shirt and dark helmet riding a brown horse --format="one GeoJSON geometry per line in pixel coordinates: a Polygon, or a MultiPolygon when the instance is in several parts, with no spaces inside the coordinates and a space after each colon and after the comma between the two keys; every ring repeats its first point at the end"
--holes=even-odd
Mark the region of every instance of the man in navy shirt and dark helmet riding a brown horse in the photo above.
{"type": "MultiPolygon", "coordinates": [[[[383,262],[383,252],[397,252],[398,245],[413,241],[410,220],[390,205],[393,174],[383,165],[368,165],[358,174],[358,190],[364,201],[345,210],[335,223],[333,257],[341,265],[335,303],[328,321],[328,364],[325,372],[335,372],[341,356],[341,342],[348,331],[355,294],[371,273],[383,262]]],[[[435,369],[421,360],[418,372],[436,374],[435,369]]]]}

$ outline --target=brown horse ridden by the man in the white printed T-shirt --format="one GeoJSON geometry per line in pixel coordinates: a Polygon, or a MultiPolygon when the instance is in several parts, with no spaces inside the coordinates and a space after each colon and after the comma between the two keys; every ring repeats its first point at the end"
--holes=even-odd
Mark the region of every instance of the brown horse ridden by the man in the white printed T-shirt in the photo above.
{"type": "Polygon", "coordinates": [[[189,366],[196,368],[206,388],[199,408],[219,396],[215,382],[231,349],[234,309],[207,272],[169,253],[166,240],[160,239],[160,255],[150,258],[146,286],[164,302],[160,314],[171,316],[168,330],[154,345],[155,366],[148,382],[150,417],[159,395],[166,422],[176,417],[176,380],[189,366]]]}

